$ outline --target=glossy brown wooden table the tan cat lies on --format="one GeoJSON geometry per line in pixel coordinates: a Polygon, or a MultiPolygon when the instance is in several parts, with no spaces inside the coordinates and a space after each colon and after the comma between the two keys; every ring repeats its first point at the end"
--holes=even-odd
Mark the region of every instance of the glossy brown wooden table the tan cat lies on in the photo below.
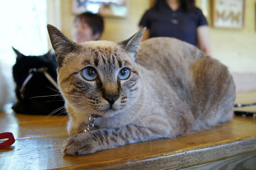
{"type": "MultiPolygon", "coordinates": [[[[237,94],[237,102],[256,102],[256,91],[237,94]]],[[[256,111],[256,106],[243,108],[256,111]]],[[[61,153],[67,117],[0,113],[0,133],[16,142],[0,149],[0,169],[256,169],[256,119],[235,116],[230,122],[176,139],[129,144],[85,156],[61,153]]]]}

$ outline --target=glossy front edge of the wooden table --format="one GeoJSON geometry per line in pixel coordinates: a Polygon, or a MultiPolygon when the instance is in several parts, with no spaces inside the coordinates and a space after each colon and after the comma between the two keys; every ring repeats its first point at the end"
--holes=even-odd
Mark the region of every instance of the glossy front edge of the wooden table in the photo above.
{"type": "Polygon", "coordinates": [[[233,141],[221,141],[199,145],[194,148],[182,148],[170,153],[161,153],[145,158],[135,157],[133,160],[129,161],[127,159],[116,159],[115,162],[102,162],[100,164],[99,162],[95,162],[92,164],[80,164],[57,169],[159,170],[168,168],[172,170],[205,164],[253,151],[256,151],[256,136],[247,136],[245,138],[234,139],[233,141]],[[219,153],[221,153],[221,155],[219,153]]]}

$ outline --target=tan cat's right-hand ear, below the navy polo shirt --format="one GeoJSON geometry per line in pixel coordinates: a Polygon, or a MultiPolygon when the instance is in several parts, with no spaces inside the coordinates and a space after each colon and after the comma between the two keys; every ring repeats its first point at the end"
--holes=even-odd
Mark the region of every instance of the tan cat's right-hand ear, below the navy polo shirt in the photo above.
{"type": "MultiPolygon", "coordinates": [[[[134,34],[132,37],[130,37],[128,40],[124,40],[121,42],[118,42],[118,44],[122,45],[125,50],[136,54],[138,47],[140,45],[141,37],[143,36],[143,33],[145,32],[146,28],[142,28],[140,31],[138,31],[136,34],[134,34]]],[[[136,56],[136,55],[134,55],[136,56]]],[[[136,60],[136,58],[135,58],[136,60]]]]}

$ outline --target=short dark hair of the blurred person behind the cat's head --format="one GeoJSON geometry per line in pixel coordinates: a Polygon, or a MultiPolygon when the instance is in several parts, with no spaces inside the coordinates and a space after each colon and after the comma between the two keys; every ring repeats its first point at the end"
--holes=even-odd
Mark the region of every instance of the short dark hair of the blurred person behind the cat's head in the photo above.
{"type": "Polygon", "coordinates": [[[93,30],[93,35],[100,33],[102,34],[104,30],[104,21],[102,16],[99,14],[93,14],[90,12],[84,12],[80,15],[77,15],[75,18],[75,22],[77,20],[83,20],[84,23],[87,23],[90,28],[93,30]]]}

